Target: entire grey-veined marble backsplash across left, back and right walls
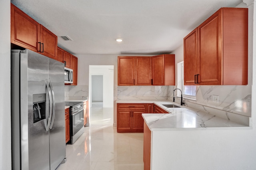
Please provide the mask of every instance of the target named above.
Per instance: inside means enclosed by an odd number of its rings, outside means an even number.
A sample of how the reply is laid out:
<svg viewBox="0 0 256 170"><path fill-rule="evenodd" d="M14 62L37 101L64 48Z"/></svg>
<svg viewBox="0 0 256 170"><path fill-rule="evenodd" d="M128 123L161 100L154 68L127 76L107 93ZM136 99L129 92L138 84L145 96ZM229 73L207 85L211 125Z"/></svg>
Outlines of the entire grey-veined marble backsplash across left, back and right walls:
<svg viewBox="0 0 256 170"><path fill-rule="evenodd" d="M72 97L87 97L88 85L65 86L65 99ZM176 86L114 86L114 100L170 100L172 101L173 89ZM216 85L197 86L196 100L184 99L188 107L204 110L212 115L225 119L244 116L251 117L252 86L250 85ZM218 97L218 102L213 101L213 96ZM179 98L176 100L180 104Z"/></svg>

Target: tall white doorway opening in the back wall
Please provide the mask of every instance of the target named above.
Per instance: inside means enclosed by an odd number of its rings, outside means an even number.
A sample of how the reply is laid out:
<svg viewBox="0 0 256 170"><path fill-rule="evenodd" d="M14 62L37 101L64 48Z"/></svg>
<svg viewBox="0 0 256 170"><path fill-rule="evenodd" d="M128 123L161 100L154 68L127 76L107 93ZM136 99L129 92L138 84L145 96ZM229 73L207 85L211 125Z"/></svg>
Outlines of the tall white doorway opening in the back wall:
<svg viewBox="0 0 256 170"><path fill-rule="evenodd" d="M114 65L89 65L89 122L113 125Z"/></svg>

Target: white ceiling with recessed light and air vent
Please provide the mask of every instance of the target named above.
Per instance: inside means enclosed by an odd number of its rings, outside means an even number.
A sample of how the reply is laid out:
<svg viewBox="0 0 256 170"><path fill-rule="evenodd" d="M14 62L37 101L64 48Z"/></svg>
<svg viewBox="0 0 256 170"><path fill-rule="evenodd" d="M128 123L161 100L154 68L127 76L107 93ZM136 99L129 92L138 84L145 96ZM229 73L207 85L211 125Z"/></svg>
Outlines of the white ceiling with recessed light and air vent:
<svg viewBox="0 0 256 170"><path fill-rule="evenodd" d="M221 7L242 0L11 0L72 54L171 53ZM64 41L69 36L74 41ZM116 42L122 38L123 42Z"/></svg>

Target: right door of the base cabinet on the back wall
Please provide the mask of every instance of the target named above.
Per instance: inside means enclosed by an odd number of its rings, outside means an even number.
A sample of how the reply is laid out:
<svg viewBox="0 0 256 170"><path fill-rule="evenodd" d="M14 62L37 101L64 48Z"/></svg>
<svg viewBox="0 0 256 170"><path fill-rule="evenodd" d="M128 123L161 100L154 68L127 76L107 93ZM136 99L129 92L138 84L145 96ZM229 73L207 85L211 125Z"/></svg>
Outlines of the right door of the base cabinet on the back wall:
<svg viewBox="0 0 256 170"><path fill-rule="evenodd" d="M146 113L146 110L134 110L132 111L132 130L135 132L143 132L144 119L142 113Z"/></svg>

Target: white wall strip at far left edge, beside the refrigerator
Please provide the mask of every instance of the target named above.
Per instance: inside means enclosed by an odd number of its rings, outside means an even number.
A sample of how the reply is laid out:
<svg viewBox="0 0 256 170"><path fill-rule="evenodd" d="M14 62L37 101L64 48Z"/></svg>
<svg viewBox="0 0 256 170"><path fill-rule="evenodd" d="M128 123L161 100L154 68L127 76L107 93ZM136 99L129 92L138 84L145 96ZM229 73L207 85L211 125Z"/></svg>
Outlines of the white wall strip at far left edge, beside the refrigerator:
<svg viewBox="0 0 256 170"><path fill-rule="evenodd" d="M10 0L0 2L0 170L11 169Z"/></svg>

